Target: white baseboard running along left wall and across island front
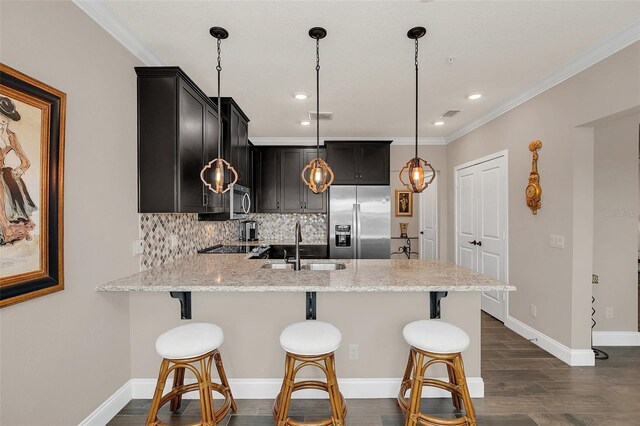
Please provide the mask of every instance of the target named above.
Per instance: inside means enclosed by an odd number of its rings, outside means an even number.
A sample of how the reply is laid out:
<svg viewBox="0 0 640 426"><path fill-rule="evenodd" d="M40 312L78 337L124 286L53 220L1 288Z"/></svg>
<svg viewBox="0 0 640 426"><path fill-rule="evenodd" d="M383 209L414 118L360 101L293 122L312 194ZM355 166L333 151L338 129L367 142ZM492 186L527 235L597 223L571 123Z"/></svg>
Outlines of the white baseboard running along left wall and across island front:
<svg viewBox="0 0 640 426"><path fill-rule="evenodd" d="M443 380L446 380L443 378ZM189 380L185 381L189 383ZM396 398L400 379L339 379L340 391L345 398ZM151 399L157 379L131 379L111 395L100 407L84 419L80 426L106 425L131 399ZM172 383L167 380L168 385ZM282 379L230 379L229 385L236 399L272 399L280 392ZM484 398L481 377L467 377L472 398ZM168 391L168 389L166 389ZM425 388L425 398L446 398L450 394L442 389ZM216 395L219 397L219 395ZM327 398L326 392L303 390L293 394L295 399ZM185 399L197 399L197 392L189 392Z"/></svg>

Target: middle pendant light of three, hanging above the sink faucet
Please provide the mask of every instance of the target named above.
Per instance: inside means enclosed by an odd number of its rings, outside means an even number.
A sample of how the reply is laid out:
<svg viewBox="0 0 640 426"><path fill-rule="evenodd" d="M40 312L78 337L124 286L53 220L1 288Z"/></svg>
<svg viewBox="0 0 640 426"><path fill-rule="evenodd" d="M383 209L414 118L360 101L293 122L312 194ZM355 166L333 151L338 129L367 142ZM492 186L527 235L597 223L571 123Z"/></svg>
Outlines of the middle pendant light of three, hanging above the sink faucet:
<svg viewBox="0 0 640 426"><path fill-rule="evenodd" d="M333 183L331 167L320 158L320 39L326 35L324 28L313 27L309 30L309 37L316 40L316 158L307 163L301 176L304 184L316 194L326 191Z"/></svg>

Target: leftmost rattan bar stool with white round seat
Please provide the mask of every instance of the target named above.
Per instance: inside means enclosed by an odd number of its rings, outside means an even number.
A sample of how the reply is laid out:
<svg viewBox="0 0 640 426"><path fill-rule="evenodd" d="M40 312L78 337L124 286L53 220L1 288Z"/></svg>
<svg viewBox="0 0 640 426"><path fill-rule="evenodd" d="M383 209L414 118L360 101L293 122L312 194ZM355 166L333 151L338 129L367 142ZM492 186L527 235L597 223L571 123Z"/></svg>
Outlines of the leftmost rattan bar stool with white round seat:
<svg viewBox="0 0 640 426"><path fill-rule="evenodd" d="M193 323L176 327L162 334L156 340L156 351L162 356L158 384L151 401L147 416L147 425L165 425L158 420L158 410L171 401L171 411L177 411L182 403L182 395L200 392L200 412L203 426L216 426L229 412L236 411L236 402L231 394L227 375L222 366L218 348L224 341L222 329L215 324ZM221 385L211 381L211 367L215 362ZM199 370L197 366L199 365ZM184 384L185 371L196 376L196 383ZM169 373L173 373L173 387L162 396ZM213 405L213 392L224 396L224 402L216 411Z"/></svg>

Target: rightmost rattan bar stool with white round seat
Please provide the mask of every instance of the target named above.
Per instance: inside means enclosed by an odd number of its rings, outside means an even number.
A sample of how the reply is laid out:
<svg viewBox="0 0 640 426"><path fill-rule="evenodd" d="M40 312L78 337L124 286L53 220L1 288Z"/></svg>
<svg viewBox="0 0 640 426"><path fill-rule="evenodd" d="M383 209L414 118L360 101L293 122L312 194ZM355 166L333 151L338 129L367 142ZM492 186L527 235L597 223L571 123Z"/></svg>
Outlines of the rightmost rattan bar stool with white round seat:
<svg viewBox="0 0 640 426"><path fill-rule="evenodd" d="M409 361L398 393L398 405L407 418L405 425L476 426L476 412L469 395L461 355L461 352L469 347L467 333L442 320L421 320L407 324L402 334L411 345ZM425 358L428 359L425 361ZM426 377L427 368L438 363L447 366L449 382ZM424 386L451 392L453 405L458 410L464 409L464 416L445 419L421 413L420 400ZM405 398L407 390L411 390L408 402Z"/></svg>

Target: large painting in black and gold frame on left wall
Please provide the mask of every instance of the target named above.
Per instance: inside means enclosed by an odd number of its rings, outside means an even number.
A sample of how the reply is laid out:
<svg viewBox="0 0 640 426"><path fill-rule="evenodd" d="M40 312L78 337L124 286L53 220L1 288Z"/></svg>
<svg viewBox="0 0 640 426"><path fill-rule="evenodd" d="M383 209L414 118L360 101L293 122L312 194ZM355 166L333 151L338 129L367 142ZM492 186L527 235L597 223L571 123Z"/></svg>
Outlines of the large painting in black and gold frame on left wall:
<svg viewBox="0 0 640 426"><path fill-rule="evenodd" d="M0 307L64 288L65 102L0 63Z"/></svg>

